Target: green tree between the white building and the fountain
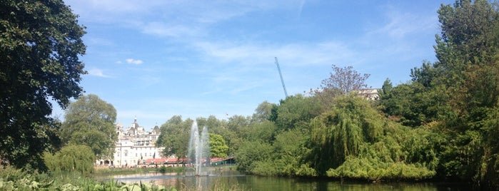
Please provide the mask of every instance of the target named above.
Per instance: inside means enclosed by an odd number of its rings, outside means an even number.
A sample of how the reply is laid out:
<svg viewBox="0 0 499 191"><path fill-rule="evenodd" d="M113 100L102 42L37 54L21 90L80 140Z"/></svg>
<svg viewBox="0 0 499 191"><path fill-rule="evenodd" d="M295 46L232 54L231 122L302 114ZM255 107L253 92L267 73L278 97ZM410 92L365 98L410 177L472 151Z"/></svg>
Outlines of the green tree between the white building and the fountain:
<svg viewBox="0 0 499 191"><path fill-rule="evenodd" d="M177 159L187 157L193 122L190 118L182 120L180 115L175 115L161 125L156 147L165 148L163 156L174 155Z"/></svg>

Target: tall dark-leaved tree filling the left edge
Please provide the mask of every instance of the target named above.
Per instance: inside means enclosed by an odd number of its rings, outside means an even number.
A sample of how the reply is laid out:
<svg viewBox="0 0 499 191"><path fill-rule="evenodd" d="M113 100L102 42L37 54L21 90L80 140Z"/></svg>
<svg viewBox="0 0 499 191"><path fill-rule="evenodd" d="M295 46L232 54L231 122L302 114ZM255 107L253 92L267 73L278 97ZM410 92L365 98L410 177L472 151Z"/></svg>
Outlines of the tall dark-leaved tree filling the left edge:
<svg viewBox="0 0 499 191"><path fill-rule="evenodd" d="M82 93L84 27L61 0L0 1L0 160L45 169L41 153L58 144L55 100Z"/></svg>

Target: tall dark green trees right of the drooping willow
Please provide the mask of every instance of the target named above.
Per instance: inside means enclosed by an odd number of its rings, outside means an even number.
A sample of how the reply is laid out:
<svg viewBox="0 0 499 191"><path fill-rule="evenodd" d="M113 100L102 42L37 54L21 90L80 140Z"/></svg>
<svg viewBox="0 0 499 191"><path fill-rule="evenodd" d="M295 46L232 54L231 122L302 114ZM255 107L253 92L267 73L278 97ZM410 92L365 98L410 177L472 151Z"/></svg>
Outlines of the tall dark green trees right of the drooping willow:
<svg viewBox="0 0 499 191"><path fill-rule="evenodd" d="M435 150L413 148L435 167L439 177L473 180L497 187L499 101L499 11L496 2L456 1L442 5L436 36L438 61L411 71L412 82L381 96L381 108L390 118L430 126ZM428 135L428 133L423 133Z"/></svg>

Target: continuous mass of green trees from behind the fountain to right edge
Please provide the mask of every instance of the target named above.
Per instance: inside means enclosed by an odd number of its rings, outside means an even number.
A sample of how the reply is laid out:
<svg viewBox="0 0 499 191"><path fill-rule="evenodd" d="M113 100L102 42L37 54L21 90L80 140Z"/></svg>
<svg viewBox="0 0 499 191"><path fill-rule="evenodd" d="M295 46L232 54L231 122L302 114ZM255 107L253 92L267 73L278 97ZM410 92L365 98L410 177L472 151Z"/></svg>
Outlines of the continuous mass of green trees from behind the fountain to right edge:
<svg viewBox="0 0 499 191"><path fill-rule="evenodd" d="M407 83L387 78L375 100L362 96L368 74L333 65L319 88L263 102L253 116L196 121L255 175L499 187L498 10L488 1L442 5L438 61L407 71ZM191 121L175 116L161 133Z"/></svg>

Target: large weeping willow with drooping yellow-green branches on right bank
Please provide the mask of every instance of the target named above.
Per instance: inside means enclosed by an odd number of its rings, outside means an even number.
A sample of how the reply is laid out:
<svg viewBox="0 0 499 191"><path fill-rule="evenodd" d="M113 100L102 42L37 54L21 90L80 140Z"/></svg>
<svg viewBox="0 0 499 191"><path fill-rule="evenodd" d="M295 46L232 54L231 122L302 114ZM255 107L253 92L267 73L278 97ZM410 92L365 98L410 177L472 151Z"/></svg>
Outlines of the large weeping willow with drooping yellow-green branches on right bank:
<svg viewBox="0 0 499 191"><path fill-rule="evenodd" d="M348 156L358 156L383 133L383 117L371 103L351 94L334 100L336 106L311 120L309 160L318 175L336 168Z"/></svg>

